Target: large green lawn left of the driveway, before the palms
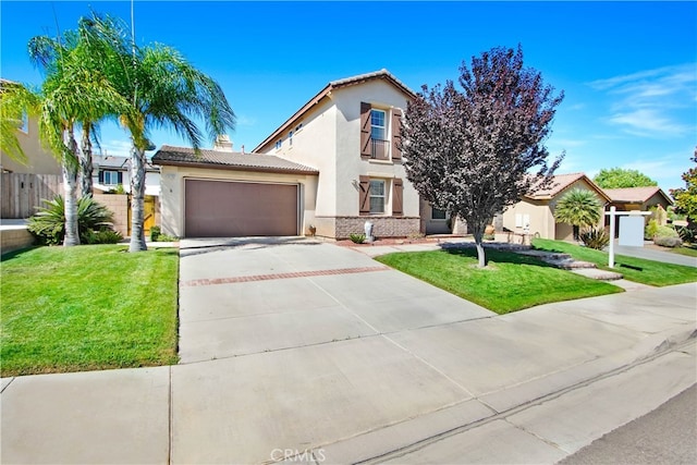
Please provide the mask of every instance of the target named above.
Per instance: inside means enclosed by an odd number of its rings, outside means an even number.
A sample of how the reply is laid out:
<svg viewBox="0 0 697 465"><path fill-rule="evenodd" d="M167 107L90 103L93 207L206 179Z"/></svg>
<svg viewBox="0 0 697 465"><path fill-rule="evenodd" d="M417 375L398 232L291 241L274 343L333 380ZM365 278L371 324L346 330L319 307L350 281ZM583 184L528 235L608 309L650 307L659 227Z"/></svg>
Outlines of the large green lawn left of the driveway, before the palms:
<svg viewBox="0 0 697 465"><path fill-rule="evenodd" d="M2 258L3 377L178 362L179 254L126 249L39 247Z"/></svg>

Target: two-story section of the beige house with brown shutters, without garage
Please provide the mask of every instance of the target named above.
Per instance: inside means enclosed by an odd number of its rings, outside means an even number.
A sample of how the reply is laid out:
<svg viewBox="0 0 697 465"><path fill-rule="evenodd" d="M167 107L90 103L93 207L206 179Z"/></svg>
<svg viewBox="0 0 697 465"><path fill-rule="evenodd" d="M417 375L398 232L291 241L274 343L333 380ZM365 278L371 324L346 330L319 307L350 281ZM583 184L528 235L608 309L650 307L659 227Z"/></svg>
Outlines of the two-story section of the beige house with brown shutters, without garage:
<svg viewBox="0 0 697 465"><path fill-rule="evenodd" d="M377 236L419 231L418 194L399 148L402 115L415 94L386 70L329 83L254 151L319 171L317 234L347 237L366 220Z"/></svg>

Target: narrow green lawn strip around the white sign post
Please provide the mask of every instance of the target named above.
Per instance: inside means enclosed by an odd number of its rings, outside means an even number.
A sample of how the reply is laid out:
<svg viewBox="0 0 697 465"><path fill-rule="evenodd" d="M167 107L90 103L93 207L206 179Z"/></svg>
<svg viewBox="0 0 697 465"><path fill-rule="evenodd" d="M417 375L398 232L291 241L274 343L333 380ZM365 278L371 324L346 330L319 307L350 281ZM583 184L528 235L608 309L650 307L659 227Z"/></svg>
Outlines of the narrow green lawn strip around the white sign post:
<svg viewBox="0 0 697 465"><path fill-rule="evenodd" d="M571 254L572 257L578 260L591 261L596 264L598 268L617 271L622 273L625 279L643 284L663 286L697 281L697 268L693 267L615 255L614 268L608 268L607 252L545 238L534 240L533 246L542 250Z"/></svg>

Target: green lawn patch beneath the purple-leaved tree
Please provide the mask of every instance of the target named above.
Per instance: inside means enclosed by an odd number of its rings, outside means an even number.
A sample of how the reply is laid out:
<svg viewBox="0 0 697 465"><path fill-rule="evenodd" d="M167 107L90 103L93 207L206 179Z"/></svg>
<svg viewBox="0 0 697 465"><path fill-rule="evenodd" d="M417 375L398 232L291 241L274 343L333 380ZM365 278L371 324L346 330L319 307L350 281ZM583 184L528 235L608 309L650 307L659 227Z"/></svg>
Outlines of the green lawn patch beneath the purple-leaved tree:
<svg viewBox="0 0 697 465"><path fill-rule="evenodd" d="M463 248L398 253L376 259L501 315L550 302L623 292L534 257L489 249L484 269L476 268L476 257L474 248Z"/></svg>

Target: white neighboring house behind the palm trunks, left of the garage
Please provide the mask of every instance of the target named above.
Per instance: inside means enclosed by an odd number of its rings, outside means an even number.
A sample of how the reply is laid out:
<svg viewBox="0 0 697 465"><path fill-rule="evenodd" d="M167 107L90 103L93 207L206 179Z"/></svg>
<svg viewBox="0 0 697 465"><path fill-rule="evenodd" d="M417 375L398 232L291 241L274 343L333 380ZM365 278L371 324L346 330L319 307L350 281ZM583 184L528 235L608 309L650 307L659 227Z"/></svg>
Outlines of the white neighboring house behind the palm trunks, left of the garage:
<svg viewBox="0 0 697 465"><path fill-rule="evenodd" d="M96 193L114 191L119 185L131 192L131 157L93 155L93 188ZM146 164L145 195L160 195L160 169Z"/></svg>

